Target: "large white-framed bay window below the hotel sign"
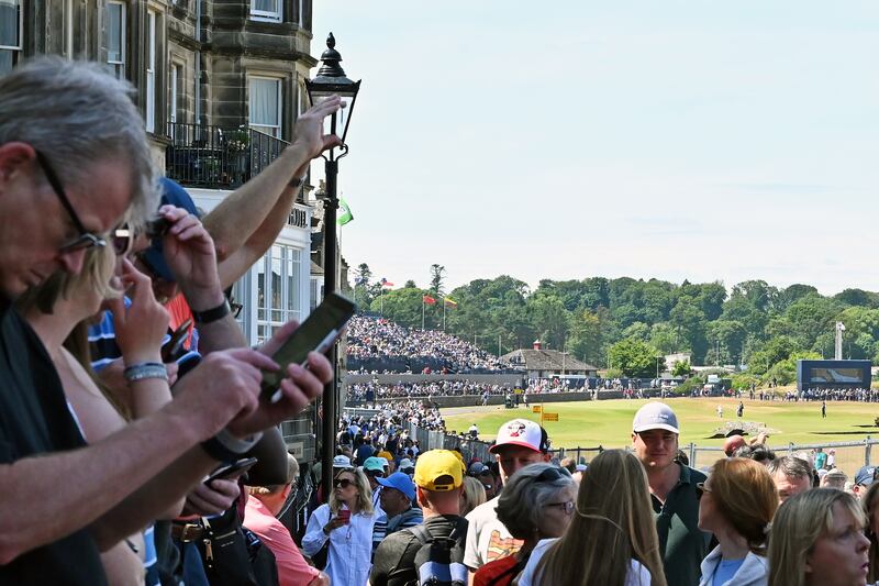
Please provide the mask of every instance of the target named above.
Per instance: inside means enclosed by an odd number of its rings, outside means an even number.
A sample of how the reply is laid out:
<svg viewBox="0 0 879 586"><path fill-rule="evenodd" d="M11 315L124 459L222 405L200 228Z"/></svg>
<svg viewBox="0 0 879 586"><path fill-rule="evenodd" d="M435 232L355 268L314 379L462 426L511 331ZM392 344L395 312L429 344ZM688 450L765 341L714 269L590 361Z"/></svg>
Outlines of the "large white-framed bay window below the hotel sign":
<svg viewBox="0 0 879 586"><path fill-rule="evenodd" d="M275 244L257 263L256 336L263 343L285 323L302 318L302 251Z"/></svg>

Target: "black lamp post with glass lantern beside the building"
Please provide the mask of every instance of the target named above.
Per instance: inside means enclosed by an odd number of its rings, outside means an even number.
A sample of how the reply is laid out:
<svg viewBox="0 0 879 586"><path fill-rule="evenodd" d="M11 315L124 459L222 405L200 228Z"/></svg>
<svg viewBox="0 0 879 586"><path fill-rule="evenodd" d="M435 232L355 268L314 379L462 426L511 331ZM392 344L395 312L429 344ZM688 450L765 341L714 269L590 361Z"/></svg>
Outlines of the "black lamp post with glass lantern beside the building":
<svg viewBox="0 0 879 586"><path fill-rule="evenodd" d="M333 33L326 37L326 51L321 55L323 65L318 70L318 77L305 80L309 101L313 104L330 96L340 96L343 101L342 109L330 119L330 132L338 135L337 129L342 126L342 146L336 154L331 148L323 156L326 176L326 199L323 201L323 292L335 292L336 284L336 210L338 210L338 159L348 154L345 136L348 134L348 123L354 112L354 102L360 81L352 81L345 77L345 71L338 65L342 55L335 49L336 40ZM323 484L324 499L330 499L333 490L333 456L335 455L336 422L338 421L338 345L334 344L330 351L330 363L333 365L333 380L323 389L323 422L321 427L321 483Z"/></svg>

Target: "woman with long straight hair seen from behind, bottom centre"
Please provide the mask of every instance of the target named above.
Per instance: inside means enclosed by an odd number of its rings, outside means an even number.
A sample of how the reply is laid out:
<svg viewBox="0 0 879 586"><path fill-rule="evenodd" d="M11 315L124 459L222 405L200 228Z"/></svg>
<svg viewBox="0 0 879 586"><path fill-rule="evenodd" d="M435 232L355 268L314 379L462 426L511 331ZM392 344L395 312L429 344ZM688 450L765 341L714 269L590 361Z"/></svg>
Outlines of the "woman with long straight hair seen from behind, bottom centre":
<svg viewBox="0 0 879 586"><path fill-rule="evenodd" d="M531 554L520 586L666 586L647 475L638 458L605 450L580 483L574 519Z"/></svg>

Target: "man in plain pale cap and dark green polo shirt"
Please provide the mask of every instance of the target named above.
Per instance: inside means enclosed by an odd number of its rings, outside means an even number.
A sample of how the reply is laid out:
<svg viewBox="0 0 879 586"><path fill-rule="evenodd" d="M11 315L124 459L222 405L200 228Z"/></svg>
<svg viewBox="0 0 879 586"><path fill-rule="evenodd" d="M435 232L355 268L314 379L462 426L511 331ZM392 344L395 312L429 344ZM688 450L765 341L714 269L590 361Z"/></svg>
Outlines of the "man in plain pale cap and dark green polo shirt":
<svg viewBox="0 0 879 586"><path fill-rule="evenodd" d="M678 418L663 402L648 402L632 422L632 447L647 473L659 550L669 586L699 584L711 533L700 531L696 485L705 475L675 461Z"/></svg>

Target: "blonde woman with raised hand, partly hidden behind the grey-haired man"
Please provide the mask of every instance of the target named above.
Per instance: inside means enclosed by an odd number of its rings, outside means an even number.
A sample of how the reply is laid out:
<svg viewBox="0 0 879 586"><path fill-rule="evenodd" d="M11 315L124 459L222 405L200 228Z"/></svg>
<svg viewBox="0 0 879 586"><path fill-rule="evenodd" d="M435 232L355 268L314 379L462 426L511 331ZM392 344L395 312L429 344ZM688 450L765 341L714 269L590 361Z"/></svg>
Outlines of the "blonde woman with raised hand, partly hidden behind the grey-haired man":
<svg viewBox="0 0 879 586"><path fill-rule="evenodd" d="M126 236L121 236L121 233ZM126 245L119 240L127 237ZM122 397L100 387L91 377L88 362L86 323L101 305L110 299L116 316L119 344L127 364L159 362L159 347L168 323L168 314L155 300L149 278L126 261L122 277L114 278L116 254L124 254L132 231L120 228L113 232L113 246L86 253L79 275L56 273L30 289L16 306L43 342L64 388L65 397L76 416L87 442L93 443L125 427L130 419L143 417L171 398L167 374L129 383L130 396ZM115 254L114 254L115 253ZM122 287L130 287L132 305L122 303ZM174 518L182 500L173 505L159 518ZM110 584L143 585L144 564L152 566L152 527L144 534L130 535L125 541L101 553L101 562Z"/></svg>

